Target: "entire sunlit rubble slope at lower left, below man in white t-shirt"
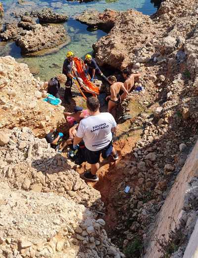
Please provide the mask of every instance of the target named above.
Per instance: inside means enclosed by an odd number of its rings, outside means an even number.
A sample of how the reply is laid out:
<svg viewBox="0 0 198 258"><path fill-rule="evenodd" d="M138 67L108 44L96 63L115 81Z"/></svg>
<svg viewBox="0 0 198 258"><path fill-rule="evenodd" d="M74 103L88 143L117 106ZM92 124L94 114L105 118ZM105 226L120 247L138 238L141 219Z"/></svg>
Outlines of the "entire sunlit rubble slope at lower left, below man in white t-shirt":
<svg viewBox="0 0 198 258"><path fill-rule="evenodd" d="M0 132L0 146L0 257L124 258L99 217L99 192L69 160L27 127Z"/></svg>

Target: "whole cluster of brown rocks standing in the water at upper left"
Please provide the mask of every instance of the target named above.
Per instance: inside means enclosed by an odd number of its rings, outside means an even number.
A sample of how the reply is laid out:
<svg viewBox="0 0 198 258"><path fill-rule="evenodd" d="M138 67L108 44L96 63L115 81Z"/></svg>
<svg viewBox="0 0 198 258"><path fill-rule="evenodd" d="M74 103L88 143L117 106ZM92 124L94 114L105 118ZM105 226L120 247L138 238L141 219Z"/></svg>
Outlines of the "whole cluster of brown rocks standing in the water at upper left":
<svg viewBox="0 0 198 258"><path fill-rule="evenodd" d="M55 15L55 14L54 14ZM53 19L57 17L54 16ZM58 16L61 18L62 16ZM55 52L58 46L62 47L69 43L70 37L66 34L63 25L36 24L30 16L21 15L21 21L6 23L4 31L0 33L3 41L14 40L21 48L22 54Z"/></svg>

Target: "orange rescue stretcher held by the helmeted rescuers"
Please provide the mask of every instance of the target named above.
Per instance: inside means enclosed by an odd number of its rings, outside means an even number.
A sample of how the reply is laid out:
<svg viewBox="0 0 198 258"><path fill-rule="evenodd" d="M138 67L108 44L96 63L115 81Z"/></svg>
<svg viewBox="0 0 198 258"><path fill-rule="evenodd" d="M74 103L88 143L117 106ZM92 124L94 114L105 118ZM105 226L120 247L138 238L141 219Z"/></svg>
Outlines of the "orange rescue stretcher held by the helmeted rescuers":
<svg viewBox="0 0 198 258"><path fill-rule="evenodd" d="M73 75L76 78L79 77L82 79L80 80L77 78L75 82L83 98L87 99L86 93L90 93L94 97L99 95L99 87L90 81L91 78L89 74L86 76L83 60L75 56L73 61L75 64L75 68L72 70Z"/></svg>

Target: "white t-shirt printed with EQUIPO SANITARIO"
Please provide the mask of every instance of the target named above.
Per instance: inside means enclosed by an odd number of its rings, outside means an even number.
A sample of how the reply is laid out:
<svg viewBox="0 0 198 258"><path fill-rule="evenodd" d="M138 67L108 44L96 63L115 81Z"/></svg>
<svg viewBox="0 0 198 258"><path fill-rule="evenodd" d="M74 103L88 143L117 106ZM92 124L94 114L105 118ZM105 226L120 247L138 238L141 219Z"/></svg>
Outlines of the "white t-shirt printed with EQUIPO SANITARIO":
<svg viewBox="0 0 198 258"><path fill-rule="evenodd" d="M110 113L99 113L82 119L76 136L83 138L88 150L99 151L111 142L111 128L116 126L116 121Z"/></svg>

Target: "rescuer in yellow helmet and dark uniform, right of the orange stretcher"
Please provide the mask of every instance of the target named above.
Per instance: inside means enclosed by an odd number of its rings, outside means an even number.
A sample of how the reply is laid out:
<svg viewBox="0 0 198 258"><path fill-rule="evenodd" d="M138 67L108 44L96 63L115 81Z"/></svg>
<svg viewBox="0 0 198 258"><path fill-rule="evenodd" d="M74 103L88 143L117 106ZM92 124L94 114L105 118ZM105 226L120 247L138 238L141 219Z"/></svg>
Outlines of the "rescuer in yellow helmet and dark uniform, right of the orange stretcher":
<svg viewBox="0 0 198 258"><path fill-rule="evenodd" d="M87 54L85 56L85 61L84 61L86 70L88 71L90 77L91 77L91 82L94 81L95 74L99 74L104 80L108 81L106 76L103 75L101 70L99 69L99 66L95 59L91 56L91 54Z"/></svg>

